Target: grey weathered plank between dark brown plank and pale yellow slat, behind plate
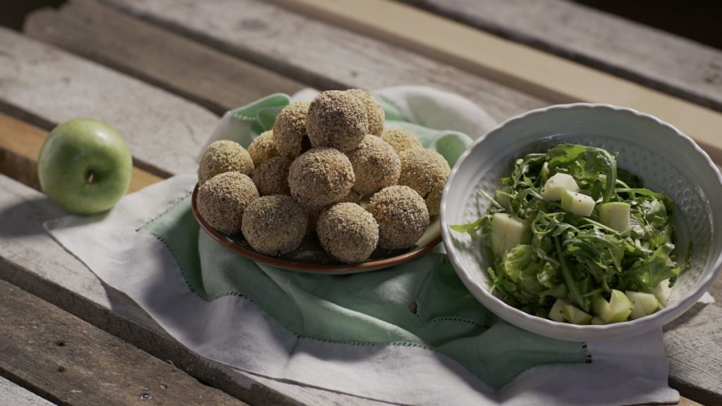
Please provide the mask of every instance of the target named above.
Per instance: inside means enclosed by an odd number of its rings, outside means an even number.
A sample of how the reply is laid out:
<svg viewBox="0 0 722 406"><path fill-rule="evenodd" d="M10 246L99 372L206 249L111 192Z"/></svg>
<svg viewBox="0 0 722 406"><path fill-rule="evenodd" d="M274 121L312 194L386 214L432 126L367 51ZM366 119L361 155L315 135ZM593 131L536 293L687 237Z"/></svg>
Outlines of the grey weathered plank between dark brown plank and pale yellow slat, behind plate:
<svg viewBox="0 0 722 406"><path fill-rule="evenodd" d="M104 0L321 90L429 85L503 120L545 100L282 7L253 0Z"/></svg>

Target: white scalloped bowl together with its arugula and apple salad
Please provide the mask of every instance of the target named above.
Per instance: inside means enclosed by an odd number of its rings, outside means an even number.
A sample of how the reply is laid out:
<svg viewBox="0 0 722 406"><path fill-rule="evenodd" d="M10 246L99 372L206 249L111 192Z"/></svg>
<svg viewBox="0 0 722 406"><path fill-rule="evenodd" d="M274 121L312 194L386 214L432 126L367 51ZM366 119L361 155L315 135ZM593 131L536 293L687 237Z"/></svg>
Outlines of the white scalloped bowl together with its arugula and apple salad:
<svg viewBox="0 0 722 406"><path fill-rule="evenodd" d="M690 308L722 263L722 180L684 134L611 105L511 118L457 161L445 248L506 321L562 340L622 337Z"/></svg>

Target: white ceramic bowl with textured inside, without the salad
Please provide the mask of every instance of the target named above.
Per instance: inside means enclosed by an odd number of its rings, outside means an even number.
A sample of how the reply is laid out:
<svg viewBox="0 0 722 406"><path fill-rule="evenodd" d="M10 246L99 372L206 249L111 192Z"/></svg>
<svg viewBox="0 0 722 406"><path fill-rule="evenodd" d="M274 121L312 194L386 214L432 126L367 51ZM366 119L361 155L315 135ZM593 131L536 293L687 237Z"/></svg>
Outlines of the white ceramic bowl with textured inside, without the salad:
<svg viewBox="0 0 722 406"><path fill-rule="evenodd" d="M448 228L477 220L488 210L490 202L477 191L484 189L493 195L514 160L560 143L619 152L619 168L640 176L645 187L664 191L674 200L677 247L682 249L692 242L692 267L679 275L664 310L603 326L558 323L526 314L489 293L486 269L492 262L482 249L484 242ZM502 319L561 340L630 336L661 327L687 311L716 276L722 264L722 178L690 137L653 116L612 105L553 105L510 118L477 139L459 157L441 200L441 230L446 251L466 288Z"/></svg>

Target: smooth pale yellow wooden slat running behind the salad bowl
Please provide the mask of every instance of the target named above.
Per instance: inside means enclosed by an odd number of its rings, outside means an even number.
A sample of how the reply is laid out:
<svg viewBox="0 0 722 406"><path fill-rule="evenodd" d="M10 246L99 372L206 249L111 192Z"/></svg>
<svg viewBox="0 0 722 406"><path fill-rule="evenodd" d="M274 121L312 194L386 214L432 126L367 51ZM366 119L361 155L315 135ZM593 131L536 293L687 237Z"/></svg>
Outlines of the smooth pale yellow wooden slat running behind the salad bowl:
<svg viewBox="0 0 722 406"><path fill-rule="evenodd" d="M554 103L611 103L651 113L722 160L722 114L687 100L390 0L274 2Z"/></svg>

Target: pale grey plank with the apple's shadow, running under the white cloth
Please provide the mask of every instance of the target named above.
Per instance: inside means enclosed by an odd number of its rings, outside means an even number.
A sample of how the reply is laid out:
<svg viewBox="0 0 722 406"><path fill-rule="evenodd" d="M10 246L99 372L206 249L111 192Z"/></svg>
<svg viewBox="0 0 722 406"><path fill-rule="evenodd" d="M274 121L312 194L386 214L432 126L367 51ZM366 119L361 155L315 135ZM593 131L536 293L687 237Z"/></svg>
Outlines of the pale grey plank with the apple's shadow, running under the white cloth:
<svg viewBox="0 0 722 406"><path fill-rule="evenodd" d="M386 405L253 376L192 353L128 296L103 285L45 232L45 220L64 214L38 191L0 175L0 280L252 405Z"/></svg>

